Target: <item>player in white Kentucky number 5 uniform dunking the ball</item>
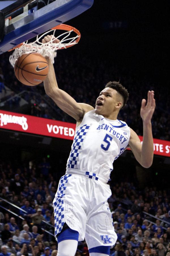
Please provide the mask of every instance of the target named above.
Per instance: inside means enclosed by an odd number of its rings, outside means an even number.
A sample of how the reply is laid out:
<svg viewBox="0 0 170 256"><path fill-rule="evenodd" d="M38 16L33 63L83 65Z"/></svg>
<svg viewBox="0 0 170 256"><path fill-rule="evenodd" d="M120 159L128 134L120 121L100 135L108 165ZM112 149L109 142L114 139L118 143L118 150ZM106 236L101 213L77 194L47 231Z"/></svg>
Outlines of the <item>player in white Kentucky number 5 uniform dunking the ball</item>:
<svg viewBox="0 0 170 256"><path fill-rule="evenodd" d="M49 42L46 36L42 43ZM56 40L56 42L58 42ZM109 255L116 243L112 215L107 199L107 184L113 161L127 148L145 168L152 165L153 138L151 118L155 110L154 91L142 100L143 144L124 121L117 119L126 105L128 91L119 82L109 82L101 90L95 109L77 103L58 88L54 67L48 60L49 73L44 80L46 94L61 110L76 119L76 132L66 174L61 177L55 195L55 236L58 256L74 256L78 241L86 239L90 256Z"/></svg>

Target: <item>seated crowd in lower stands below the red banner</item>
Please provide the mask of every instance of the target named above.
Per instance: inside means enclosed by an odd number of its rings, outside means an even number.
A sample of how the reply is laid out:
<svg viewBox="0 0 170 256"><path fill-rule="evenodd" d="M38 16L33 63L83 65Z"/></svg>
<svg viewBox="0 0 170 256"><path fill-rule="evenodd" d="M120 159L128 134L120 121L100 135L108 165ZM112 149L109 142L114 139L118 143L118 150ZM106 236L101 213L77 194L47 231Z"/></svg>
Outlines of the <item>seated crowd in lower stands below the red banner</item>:
<svg viewBox="0 0 170 256"><path fill-rule="evenodd" d="M64 170L57 173L46 158L18 168L0 160L0 256L57 255L52 201ZM169 256L170 189L139 189L114 180L110 185L108 202L118 236L110 255ZM85 241L78 243L76 255L89 255Z"/></svg>

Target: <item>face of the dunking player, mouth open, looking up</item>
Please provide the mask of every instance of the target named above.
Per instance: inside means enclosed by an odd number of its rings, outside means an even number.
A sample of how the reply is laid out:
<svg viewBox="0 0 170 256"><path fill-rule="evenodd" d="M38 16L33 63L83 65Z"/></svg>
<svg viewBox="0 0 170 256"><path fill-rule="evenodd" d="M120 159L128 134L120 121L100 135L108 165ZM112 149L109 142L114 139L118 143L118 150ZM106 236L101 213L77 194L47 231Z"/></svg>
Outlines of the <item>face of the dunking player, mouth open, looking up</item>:
<svg viewBox="0 0 170 256"><path fill-rule="evenodd" d="M113 112L119 110L121 105L122 102L118 101L116 90L107 87L100 92L100 95L96 100L95 113L107 118Z"/></svg>

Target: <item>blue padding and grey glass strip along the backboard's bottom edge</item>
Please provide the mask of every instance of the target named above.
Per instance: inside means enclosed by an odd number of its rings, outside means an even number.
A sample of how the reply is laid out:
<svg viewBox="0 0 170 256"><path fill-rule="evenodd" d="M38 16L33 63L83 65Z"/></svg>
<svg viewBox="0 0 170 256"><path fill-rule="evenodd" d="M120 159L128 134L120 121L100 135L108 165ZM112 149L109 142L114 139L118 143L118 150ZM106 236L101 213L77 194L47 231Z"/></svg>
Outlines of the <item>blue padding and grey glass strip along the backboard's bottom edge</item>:
<svg viewBox="0 0 170 256"><path fill-rule="evenodd" d="M5 35L0 42L0 54L13 47L64 23L87 9L94 0L56 0L5 27Z"/></svg>

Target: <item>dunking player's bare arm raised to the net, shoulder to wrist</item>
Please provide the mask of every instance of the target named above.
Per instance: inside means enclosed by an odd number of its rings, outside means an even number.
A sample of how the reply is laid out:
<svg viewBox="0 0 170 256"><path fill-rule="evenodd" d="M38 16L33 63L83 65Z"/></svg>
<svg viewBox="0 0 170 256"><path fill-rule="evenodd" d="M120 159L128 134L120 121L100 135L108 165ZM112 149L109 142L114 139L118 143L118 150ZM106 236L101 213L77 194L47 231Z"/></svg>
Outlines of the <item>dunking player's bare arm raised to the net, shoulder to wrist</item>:
<svg viewBox="0 0 170 256"><path fill-rule="evenodd" d="M58 88L54 67L51 61L48 61L48 76L44 80L45 92L57 106L76 121L80 121L84 114L93 109L92 106L83 103L77 103L67 92Z"/></svg>

